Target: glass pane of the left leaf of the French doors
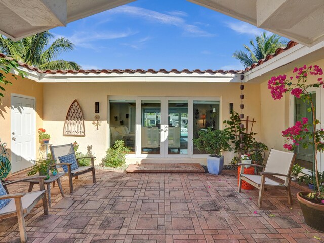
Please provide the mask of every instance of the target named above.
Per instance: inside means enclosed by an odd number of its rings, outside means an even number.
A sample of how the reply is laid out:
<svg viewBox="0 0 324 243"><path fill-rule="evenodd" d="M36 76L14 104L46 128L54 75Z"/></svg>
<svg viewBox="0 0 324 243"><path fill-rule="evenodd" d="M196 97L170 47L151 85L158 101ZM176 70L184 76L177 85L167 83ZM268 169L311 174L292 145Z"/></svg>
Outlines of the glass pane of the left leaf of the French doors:
<svg viewBox="0 0 324 243"><path fill-rule="evenodd" d="M161 153L161 101L141 101L141 154Z"/></svg>

